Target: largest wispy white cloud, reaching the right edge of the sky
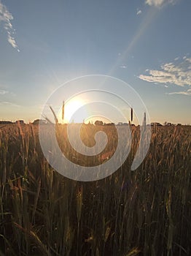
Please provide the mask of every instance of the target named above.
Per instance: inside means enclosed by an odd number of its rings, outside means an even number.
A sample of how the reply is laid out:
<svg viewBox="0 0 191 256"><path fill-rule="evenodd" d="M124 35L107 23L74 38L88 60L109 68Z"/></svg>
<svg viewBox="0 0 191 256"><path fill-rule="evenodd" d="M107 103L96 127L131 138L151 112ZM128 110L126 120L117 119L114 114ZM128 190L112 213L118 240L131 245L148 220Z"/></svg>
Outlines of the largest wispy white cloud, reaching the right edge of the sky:
<svg viewBox="0 0 191 256"><path fill-rule="evenodd" d="M191 58L183 58L182 62L166 63L160 70L148 70L149 75L139 75L141 80L151 83L174 84L176 86L191 86Z"/></svg>

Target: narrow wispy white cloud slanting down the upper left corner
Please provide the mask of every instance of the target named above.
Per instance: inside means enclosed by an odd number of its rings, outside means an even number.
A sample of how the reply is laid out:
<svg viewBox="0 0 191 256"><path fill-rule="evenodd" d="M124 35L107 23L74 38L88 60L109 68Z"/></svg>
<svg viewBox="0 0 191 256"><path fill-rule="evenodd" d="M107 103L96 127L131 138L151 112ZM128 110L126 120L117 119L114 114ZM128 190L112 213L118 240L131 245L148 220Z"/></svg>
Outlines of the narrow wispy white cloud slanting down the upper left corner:
<svg viewBox="0 0 191 256"><path fill-rule="evenodd" d="M12 14L7 10L7 7L1 3L0 0L0 25L3 23L4 29L7 31L7 41L13 48L20 50L17 47L17 43L14 37L15 29L12 28Z"/></svg>

